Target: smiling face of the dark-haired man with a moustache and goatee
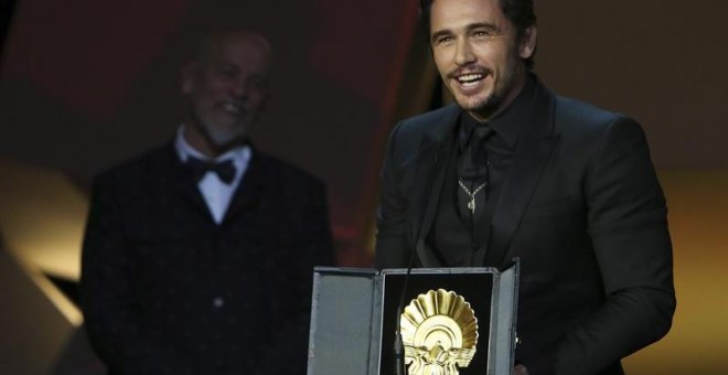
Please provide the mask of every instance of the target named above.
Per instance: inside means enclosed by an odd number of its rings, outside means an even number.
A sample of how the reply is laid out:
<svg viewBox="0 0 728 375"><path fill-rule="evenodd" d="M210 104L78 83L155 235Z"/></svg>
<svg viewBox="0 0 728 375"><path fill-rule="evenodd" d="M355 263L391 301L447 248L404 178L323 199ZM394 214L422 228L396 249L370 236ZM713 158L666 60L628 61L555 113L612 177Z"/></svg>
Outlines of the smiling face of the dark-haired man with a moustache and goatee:
<svg viewBox="0 0 728 375"><path fill-rule="evenodd" d="M430 30L435 64L460 107L485 120L515 98L535 28L518 41L499 0L436 0Z"/></svg>

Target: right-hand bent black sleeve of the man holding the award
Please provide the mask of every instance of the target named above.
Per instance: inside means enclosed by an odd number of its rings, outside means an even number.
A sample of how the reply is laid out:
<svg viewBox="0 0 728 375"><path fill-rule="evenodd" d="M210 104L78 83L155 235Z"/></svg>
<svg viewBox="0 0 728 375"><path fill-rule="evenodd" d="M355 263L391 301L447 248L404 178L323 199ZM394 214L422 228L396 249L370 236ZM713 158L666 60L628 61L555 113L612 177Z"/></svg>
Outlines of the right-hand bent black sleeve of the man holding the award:
<svg viewBox="0 0 728 375"><path fill-rule="evenodd" d="M557 349L557 374L592 374L667 333L675 310L667 208L640 125L606 130L585 185L606 302Z"/></svg>

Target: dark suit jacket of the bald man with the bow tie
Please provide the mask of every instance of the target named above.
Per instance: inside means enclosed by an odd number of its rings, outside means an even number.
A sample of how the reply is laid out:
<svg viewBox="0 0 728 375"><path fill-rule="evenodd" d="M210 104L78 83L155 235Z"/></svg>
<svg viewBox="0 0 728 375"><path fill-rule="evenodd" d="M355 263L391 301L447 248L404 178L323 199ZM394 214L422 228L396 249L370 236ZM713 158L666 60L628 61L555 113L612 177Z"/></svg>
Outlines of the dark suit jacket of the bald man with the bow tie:
<svg viewBox="0 0 728 375"><path fill-rule="evenodd" d="M113 373L304 374L324 188L258 151L216 225L174 148L95 180L81 297Z"/></svg>

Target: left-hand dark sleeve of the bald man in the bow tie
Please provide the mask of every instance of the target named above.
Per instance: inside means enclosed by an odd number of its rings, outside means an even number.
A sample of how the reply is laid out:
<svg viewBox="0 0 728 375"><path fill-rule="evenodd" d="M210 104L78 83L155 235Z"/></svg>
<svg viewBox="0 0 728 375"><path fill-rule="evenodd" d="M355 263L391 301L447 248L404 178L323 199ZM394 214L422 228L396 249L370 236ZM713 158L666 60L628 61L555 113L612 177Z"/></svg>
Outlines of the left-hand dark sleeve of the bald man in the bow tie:
<svg viewBox="0 0 728 375"><path fill-rule="evenodd" d="M124 204L114 183L99 181L92 195L79 289L89 341L111 373L191 374L184 356L139 314Z"/></svg>

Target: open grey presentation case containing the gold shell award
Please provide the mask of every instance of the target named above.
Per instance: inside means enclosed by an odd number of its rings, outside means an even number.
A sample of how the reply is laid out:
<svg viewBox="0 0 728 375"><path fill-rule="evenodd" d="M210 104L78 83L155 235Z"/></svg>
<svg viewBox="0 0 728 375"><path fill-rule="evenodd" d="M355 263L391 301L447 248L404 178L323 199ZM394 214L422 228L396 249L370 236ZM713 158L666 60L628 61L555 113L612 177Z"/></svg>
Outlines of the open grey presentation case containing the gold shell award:
<svg viewBox="0 0 728 375"><path fill-rule="evenodd" d="M308 374L394 374L398 329L406 374L511 374L517 286L517 260L502 270L317 267Z"/></svg>

